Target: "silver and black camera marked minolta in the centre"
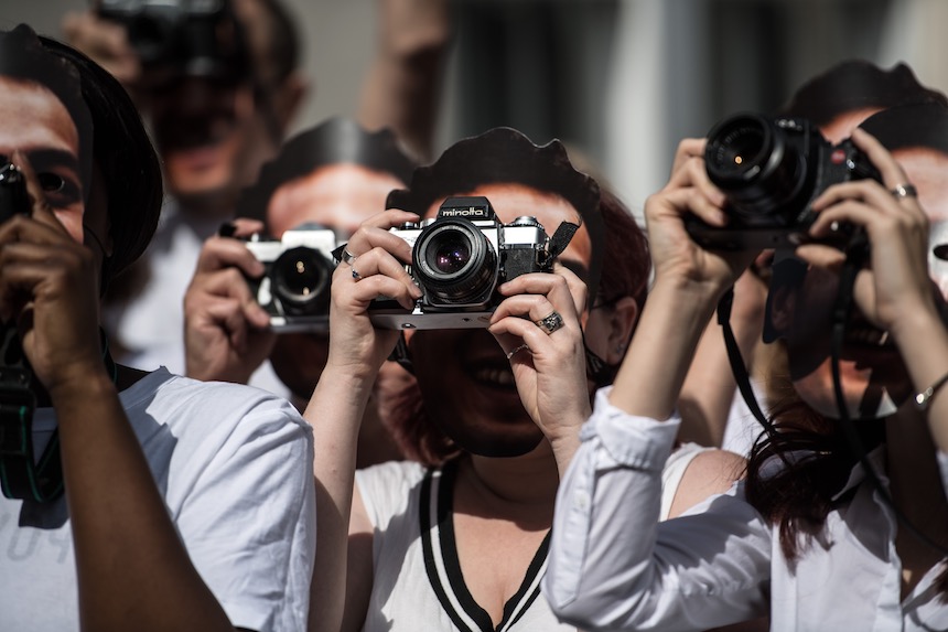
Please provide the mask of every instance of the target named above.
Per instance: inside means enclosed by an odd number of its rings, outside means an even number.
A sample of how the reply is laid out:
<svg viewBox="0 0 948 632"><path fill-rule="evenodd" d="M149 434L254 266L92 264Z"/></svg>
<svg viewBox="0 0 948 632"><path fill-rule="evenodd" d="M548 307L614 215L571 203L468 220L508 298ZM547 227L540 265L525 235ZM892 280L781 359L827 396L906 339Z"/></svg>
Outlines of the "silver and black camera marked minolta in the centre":
<svg viewBox="0 0 948 632"><path fill-rule="evenodd" d="M536 217L500 223L486 197L449 197L433 219L391 229L412 246L408 271L423 296L410 312L379 298L369 317L387 329L487 326L503 300L497 286L551 271L578 227L563 222L551 238Z"/></svg>

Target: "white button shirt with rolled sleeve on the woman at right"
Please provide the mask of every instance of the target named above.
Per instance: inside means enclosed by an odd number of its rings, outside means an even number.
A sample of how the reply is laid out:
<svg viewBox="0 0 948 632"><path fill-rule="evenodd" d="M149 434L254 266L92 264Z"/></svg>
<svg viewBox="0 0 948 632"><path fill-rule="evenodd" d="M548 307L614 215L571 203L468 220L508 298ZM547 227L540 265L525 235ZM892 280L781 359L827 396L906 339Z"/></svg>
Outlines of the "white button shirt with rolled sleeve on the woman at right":
<svg viewBox="0 0 948 632"><path fill-rule="evenodd" d="M766 614L774 631L948 629L934 586L944 565L899 600L896 522L861 468L852 500L791 569L741 483L659 524L661 465L680 420L633 417L607 394L596 394L559 489L542 588L561 618L610 630L704 630ZM948 489L948 456L938 459Z"/></svg>

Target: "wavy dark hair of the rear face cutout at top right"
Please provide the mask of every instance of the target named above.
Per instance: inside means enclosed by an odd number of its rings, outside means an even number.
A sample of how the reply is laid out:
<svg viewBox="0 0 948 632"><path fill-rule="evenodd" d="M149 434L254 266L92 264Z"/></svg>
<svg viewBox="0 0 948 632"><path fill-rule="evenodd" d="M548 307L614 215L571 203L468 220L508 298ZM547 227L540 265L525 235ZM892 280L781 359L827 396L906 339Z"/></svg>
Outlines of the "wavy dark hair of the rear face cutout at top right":
<svg viewBox="0 0 948 632"><path fill-rule="evenodd" d="M848 60L800 86L779 114L823 126L849 111L908 104L948 107L948 97L923 86L905 64L883 69L864 60Z"/></svg>

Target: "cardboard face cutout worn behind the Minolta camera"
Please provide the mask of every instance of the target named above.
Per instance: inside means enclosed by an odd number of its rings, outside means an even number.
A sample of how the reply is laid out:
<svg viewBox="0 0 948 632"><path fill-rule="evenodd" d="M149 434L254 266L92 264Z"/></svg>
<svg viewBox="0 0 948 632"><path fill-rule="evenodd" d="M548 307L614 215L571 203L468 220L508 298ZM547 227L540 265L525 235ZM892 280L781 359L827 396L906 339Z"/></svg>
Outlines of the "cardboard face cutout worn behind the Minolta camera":
<svg viewBox="0 0 948 632"><path fill-rule="evenodd" d="M597 286L604 233L599 186L573 168L559 141L540 147L508 128L464 139L416 170L409 188L394 191L387 205L433 218L445 200L456 197L485 197L504 225L535 217L546 235L531 238L549 237L564 222L581 223L559 260ZM442 217L450 222L454 215ZM543 435L524 409L510 362L486 330L417 331L408 346L423 424L486 457L516 457L540 444ZM394 417L395 426L419 422Z"/></svg>

